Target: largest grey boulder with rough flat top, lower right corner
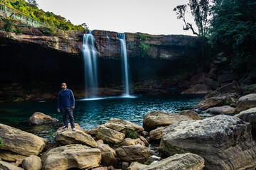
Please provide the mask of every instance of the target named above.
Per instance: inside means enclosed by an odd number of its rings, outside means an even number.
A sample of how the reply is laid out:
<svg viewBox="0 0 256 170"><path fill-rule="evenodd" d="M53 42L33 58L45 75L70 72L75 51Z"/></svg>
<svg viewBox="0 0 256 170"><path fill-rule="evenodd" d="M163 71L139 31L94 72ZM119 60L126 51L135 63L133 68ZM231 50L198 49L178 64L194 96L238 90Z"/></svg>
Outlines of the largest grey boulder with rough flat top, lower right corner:
<svg viewBox="0 0 256 170"><path fill-rule="evenodd" d="M229 115L179 122L163 130L159 149L166 155L191 152L206 169L255 169L256 143L250 123Z"/></svg>

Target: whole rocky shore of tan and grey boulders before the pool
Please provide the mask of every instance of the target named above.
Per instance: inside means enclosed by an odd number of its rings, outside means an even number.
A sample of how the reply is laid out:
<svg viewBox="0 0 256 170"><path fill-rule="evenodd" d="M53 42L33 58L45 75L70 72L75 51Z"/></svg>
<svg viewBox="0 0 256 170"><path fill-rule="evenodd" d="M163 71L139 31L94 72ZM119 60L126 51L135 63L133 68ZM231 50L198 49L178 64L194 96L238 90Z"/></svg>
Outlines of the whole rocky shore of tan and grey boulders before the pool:
<svg viewBox="0 0 256 170"><path fill-rule="evenodd" d="M52 143L0 124L0 169L255 169L253 87L233 81L206 95L194 111L147 113L143 127L111 118L90 131L78 124L75 132L59 128ZM216 116L202 120L202 112ZM34 113L27 123L55 121Z"/></svg>

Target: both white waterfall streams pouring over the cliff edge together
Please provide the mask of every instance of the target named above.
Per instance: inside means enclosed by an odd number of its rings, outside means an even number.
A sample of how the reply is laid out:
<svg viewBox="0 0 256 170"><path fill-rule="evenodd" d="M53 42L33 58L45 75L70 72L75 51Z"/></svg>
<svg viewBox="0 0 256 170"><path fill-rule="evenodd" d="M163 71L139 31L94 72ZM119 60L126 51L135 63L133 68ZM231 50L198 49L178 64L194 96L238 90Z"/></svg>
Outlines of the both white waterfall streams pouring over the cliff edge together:
<svg viewBox="0 0 256 170"><path fill-rule="evenodd" d="M83 35L82 55L85 67L85 100L99 99L97 97L98 74L97 74L97 50L95 48L95 38L92 35L93 31ZM107 35L107 34L106 34ZM127 60L127 47L125 42L125 34L118 33L118 38L121 45L122 57L122 77L125 83L125 91L122 97L132 97L129 95L129 66ZM107 40L110 38L107 36Z"/></svg>

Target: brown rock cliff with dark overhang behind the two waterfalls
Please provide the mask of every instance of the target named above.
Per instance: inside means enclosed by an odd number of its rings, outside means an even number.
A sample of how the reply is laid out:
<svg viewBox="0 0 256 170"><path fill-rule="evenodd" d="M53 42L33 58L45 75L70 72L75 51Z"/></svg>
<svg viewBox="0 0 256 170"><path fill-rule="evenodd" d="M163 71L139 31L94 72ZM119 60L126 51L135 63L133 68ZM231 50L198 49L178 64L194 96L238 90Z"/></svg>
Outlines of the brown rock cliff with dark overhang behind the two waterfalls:
<svg viewBox="0 0 256 170"><path fill-rule="evenodd" d="M23 34L0 30L0 101L10 97L28 98L31 94L55 98L55 92L63 81L83 96L81 48L85 31L54 30L49 33L43 28L27 27L21 30ZM94 30L93 35L98 52L99 85L121 85L122 59L118 33ZM142 33L125 35L131 82L171 77L194 67L201 57L201 45L196 37ZM55 94L47 97L46 93Z"/></svg>

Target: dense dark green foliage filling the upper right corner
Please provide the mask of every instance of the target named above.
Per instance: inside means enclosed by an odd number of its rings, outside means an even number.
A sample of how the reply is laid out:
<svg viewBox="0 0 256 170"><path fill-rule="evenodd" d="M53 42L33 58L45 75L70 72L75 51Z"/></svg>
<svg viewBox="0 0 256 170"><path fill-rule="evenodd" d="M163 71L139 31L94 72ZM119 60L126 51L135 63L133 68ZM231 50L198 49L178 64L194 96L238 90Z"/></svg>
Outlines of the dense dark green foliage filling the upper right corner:
<svg viewBox="0 0 256 170"><path fill-rule="evenodd" d="M210 44L231 56L233 67L253 69L256 55L256 1L215 0Z"/></svg>

